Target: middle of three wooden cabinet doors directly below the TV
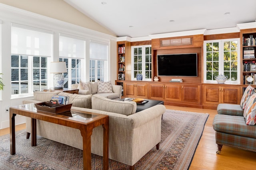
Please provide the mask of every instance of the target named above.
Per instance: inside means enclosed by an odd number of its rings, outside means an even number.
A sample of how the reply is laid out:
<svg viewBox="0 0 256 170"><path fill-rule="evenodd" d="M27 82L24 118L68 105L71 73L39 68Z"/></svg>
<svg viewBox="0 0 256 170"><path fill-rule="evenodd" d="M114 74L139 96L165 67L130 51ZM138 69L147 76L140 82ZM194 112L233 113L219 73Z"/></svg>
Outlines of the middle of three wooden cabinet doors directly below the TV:
<svg viewBox="0 0 256 170"><path fill-rule="evenodd" d="M181 86L179 84L166 84L164 87L166 100L181 101Z"/></svg>

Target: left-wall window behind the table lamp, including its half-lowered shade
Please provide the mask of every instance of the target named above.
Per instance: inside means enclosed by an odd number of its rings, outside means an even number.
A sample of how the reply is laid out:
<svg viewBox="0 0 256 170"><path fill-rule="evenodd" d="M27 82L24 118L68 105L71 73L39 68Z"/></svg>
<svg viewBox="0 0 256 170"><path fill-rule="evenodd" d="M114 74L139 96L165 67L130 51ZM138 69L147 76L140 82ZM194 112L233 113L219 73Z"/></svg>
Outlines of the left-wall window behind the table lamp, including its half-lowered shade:
<svg viewBox="0 0 256 170"><path fill-rule="evenodd" d="M59 61L66 62L67 71L64 75L64 88L79 83L82 73L82 61L85 58L86 41L80 37L60 35Z"/></svg>

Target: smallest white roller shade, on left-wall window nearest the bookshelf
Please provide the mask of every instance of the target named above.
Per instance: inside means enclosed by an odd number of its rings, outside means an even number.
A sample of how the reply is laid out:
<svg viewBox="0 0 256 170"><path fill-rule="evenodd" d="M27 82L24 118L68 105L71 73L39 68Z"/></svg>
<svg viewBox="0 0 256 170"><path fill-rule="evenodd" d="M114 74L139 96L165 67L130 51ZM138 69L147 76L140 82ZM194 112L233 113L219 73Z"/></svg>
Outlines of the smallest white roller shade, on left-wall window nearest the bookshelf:
<svg viewBox="0 0 256 170"><path fill-rule="evenodd" d="M90 59L108 60L108 45L90 42Z"/></svg>

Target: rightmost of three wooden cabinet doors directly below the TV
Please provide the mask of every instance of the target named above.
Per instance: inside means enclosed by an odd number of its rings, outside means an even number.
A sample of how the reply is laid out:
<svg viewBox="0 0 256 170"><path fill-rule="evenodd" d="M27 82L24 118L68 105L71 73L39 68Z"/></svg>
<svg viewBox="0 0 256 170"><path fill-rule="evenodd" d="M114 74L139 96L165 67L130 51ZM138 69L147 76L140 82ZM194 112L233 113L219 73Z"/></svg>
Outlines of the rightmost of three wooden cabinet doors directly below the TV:
<svg viewBox="0 0 256 170"><path fill-rule="evenodd" d="M182 85L182 101L200 104L201 86L199 85Z"/></svg>

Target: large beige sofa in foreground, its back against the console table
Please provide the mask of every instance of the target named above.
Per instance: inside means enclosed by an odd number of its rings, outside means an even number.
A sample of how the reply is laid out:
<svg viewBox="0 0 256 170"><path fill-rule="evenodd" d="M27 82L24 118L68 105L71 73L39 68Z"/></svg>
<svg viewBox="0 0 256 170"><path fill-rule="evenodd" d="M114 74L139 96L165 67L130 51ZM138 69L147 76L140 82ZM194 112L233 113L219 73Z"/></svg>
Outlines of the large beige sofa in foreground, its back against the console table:
<svg viewBox="0 0 256 170"><path fill-rule="evenodd" d="M35 92L34 100L24 100L23 104L49 101L54 92ZM161 141L161 117L166 108L157 105L136 111L136 103L110 100L99 95L79 95L61 92L70 96L72 109L100 113L109 116L109 158L130 165L142 158L149 150L159 148ZM31 132L31 120L27 117L27 132ZM78 129L37 120L37 135L82 149L82 136ZM92 133L91 151L103 155L103 128L96 127Z"/></svg>

